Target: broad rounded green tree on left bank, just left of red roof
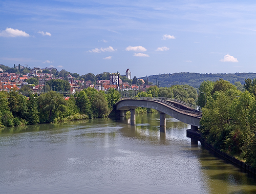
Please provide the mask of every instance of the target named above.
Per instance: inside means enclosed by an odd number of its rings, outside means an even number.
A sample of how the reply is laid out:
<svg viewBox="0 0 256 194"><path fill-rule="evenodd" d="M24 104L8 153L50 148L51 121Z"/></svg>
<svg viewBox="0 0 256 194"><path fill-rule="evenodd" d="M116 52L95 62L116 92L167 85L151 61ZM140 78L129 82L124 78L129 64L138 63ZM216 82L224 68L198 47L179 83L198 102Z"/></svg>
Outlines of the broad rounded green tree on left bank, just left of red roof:
<svg viewBox="0 0 256 194"><path fill-rule="evenodd" d="M62 95L54 91L41 94L37 100L40 123L53 122L67 110L67 102Z"/></svg>

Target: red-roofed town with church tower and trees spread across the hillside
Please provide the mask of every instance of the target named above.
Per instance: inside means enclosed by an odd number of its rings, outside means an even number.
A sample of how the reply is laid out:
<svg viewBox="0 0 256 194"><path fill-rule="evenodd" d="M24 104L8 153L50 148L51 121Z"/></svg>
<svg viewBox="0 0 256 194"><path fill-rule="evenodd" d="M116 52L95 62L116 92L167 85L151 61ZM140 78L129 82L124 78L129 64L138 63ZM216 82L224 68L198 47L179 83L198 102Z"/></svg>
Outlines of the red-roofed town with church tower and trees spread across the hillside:
<svg viewBox="0 0 256 194"><path fill-rule="evenodd" d="M3 65L2 65L3 67ZM27 68L24 66L15 66L10 69L16 69L15 73L5 72L0 66L0 91L4 90L10 92L13 89L16 90L29 90L32 93L40 94L48 91L56 91L63 95L74 94L86 88L95 88L97 91L108 91L109 89L115 89L118 91L141 91L145 92L147 88L150 88L152 83L148 83L148 80L131 78L131 70L127 69L125 75L120 73L108 73L104 72L103 76L94 76L89 73L89 76L79 76L77 73L70 73L65 70L60 72L53 67L40 68ZM26 71L24 71L26 70ZM29 71L29 72L28 72ZM23 72L23 73L20 73ZM54 80L66 80L69 82L69 86L63 88L55 87ZM45 87L49 84L49 87Z"/></svg>

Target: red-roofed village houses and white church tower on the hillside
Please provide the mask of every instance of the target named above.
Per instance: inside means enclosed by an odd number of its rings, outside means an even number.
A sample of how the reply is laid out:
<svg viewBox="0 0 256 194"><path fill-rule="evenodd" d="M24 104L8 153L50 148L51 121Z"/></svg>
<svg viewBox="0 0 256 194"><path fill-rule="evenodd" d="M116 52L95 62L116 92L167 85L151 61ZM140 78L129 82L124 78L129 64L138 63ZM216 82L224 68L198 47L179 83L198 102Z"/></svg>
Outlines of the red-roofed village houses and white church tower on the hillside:
<svg viewBox="0 0 256 194"><path fill-rule="evenodd" d="M16 69L24 69L24 66L17 66ZM116 89L118 91L146 91L151 85L146 84L148 82L143 79L138 79L137 81L140 84L131 84L129 82L123 82L121 80L121 76L125 76L127 79L131 80L131 71L127 69L125 71L125 75L120 75L120 73L110 73L109 79L104 80L96 80L96 82L92 82L91 80L77 80L75 77L72 77L70 74L64 77L56 77L52 72L56 72L56 68L33 68L30 69L30 72L27 74L18 74L18 73L7 73L3 72L3 69L0 68L0 91L11 91L13 89L20 90L25 85L33 91L33 93L40 94L42 92L46 92L45 85L47 81L51 81L53 79L61 79L68 80L70 84L70 91L57 91L55 87L50 87L50 90L56 92L65 92L66 94L74 94L76 91L79 92L86 88L95 88L97 91L108 91L109 89ZM42 73L47 72L47 73ZM27 80L30 78L37 78L38 84L28 83ZM49 89L48 89L49 90Z"/></svg>

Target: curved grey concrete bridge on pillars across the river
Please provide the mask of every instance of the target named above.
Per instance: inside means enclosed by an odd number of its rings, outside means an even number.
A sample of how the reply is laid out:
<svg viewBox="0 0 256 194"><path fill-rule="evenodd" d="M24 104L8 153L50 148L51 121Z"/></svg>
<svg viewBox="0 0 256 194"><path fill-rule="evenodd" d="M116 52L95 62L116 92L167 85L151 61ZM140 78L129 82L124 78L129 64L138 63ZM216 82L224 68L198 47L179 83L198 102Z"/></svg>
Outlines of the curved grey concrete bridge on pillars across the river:
<svg viewBox="0 0 256 194"><path fill-rule="evenodd" d="M202 118L202 112L196 110L194 105L172 98L135 97L116 102L116 111L119 112L121 120L124 119L125 111L130 111L131 122L135 122L135 109L137 107L157 110L160 113L160 131L161 127L164 129L162 132L165 132L166 114L191 125L192 131L197 131Z"/></svg>

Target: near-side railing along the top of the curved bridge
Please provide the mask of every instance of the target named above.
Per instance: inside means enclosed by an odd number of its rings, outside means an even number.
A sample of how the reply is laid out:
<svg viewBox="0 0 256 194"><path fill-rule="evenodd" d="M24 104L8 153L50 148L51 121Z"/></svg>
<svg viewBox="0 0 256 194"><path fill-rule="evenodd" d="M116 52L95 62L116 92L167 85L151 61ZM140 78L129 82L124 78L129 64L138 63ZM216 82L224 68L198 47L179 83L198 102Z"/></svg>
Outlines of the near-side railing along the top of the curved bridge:
<svg viewBox="0 0 256 194"><path fill-rule="evenodd" d="M163 100L161 98L154 98L154 97L131 97L131 98L122 98L119 101L124 100L124 99L157 101L157 102L160 102L162 104L165 104L166 106L169 106L171 109L173 109L173 110L175 110L177 112L180 112L180 113L183 113L183 114L186 114L186 115L190 115L190 116L194 116L194 117L198 117L198 118L202 117L202 113L195 113L193 111L179 109L178 107L174 106L172 103L168 102L168 100Z"/></svg>

